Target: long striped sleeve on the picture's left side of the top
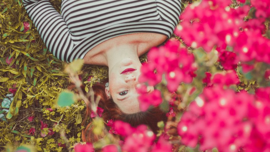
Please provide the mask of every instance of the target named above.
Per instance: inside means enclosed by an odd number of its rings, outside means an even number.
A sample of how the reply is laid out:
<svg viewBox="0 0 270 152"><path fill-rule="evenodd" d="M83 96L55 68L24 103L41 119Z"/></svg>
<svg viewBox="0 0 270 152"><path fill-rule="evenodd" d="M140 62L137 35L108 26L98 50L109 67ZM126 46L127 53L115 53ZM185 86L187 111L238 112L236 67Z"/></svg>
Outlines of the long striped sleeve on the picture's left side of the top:
<svg viewBox="0 0 270 152"><path fill-rule="evenodd" d="M49 0L23 0L23 3L47 48L55 57L67 61L74 43L62 15Z"/></svg>

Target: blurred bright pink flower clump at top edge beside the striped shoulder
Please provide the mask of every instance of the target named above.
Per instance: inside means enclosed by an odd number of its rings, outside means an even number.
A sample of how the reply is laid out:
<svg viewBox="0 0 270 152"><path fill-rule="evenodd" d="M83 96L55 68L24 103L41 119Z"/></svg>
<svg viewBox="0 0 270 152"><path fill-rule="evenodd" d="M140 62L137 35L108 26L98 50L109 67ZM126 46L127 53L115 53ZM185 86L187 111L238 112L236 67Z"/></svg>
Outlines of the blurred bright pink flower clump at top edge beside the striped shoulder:
<svg viewBox="0 0 270 152"><path fill-rule="evenodd" d="M229 4L230 1L206 0L198 6L188 6L181 14L182 22L175 33L187 45L193 48L203 47L207 52L214 46L231 45L249 8L240 7L236 10L229 8Z"/></svg>

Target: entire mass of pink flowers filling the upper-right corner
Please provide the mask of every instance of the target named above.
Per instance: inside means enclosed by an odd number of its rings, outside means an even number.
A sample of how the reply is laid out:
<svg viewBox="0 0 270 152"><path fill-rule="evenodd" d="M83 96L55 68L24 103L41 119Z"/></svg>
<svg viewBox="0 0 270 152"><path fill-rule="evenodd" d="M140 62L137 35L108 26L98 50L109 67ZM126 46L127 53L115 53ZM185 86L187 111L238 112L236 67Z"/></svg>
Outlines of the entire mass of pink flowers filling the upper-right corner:
<svg viewBox="0 0 270 152"><path fill-rule="evenodd" d="M206 0L197 6L188 6L175 33L193 48L203 47L210 52L216 47L225 70L235 69L239 61L270 63L270 41L262 36L265 18L269 17L269 2L251 1L256 18L245 22L250 6L230 8L229 4L230 1ZM227 46L233 51L226 51Z"/></svg>

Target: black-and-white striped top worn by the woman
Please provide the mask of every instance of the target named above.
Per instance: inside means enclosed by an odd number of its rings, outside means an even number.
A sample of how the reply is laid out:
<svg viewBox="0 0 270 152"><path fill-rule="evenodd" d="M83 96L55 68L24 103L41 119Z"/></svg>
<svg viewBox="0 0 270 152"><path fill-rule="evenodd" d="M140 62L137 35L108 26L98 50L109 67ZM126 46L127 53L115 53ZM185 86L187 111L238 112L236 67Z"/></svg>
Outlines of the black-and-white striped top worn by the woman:
<svg viewBox="0 0 270 152"><path fill-rule="evenodd" d="M83 59L103 41L132 33L172 35L181 0L62 0L61 14L49 0L23 0L51 53L62 61Z"/></svg>

